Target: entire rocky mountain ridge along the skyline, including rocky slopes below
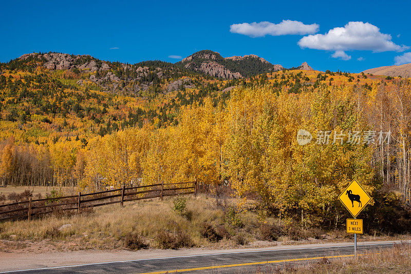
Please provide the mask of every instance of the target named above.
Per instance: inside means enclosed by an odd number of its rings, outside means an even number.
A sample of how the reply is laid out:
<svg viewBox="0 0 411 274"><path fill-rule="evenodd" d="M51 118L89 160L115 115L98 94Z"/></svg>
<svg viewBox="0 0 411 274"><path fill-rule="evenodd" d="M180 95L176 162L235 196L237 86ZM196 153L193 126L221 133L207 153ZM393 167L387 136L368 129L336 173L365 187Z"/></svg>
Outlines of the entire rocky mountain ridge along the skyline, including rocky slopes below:
<svg viewBox="0 0 411 274"><path fill-rule="evenodd" d="M98 86L107 92L121 94L145 94L183 90L201 85L202 77L218 77L235 80L284 70L282 65L273 65L257 55L222 57L218 52L201 50L175 64L163 61L143 61L136 64L102 61L90 55L67 53L29 53L9 63L0 63L3 68L33 72L39 66L50 71L65 70L81 86ZM291 69L312 70L303 63ZM195 84L196 83L196 84Z"/></svg>

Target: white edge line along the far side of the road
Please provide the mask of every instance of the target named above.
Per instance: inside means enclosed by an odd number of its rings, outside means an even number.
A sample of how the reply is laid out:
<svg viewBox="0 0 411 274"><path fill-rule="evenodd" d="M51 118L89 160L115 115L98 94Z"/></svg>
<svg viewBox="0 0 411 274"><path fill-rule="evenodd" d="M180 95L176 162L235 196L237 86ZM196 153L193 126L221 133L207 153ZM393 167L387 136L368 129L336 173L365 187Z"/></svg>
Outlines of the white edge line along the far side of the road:
<svg viewBox="0 0 411 274"><path fill-rule="evenodd" d="M369 245L393 245L393 244L400 244L400 243L402 243L402 242L408 242L408 241L411 241L411 240L400 241L400 242L392 242L392 243L379 243L379 244L357 244L357 246L363 246L363 245L365 245L365 246L369 246ZM176 258L212 256L212 255L226 255L226 254L238 254L238 253L250 253L250 252L284 251L284 250L300 250L300 249L319 249L319 248L335 248L335 247L347 247L347 246L353 246L353 245L297 247L297 248L282 248L282 249L266 249L266 250L250 250L250 251L221 252L221 253L209 253L209 254L174 256L174 257L137 259L137 260L127 260L127 261L114 261L114 262L102 262L102 263L90 263L90 264L78 264L78 265L53 266L53 267L43 267L43 268L11 270L11 271L4 271L4 272L0 272L0 273L13 273L13 272L21 272L21 271L34 271L34 270L46 270L46 269L78 267L78 266L89 266L89 265L115 264L115 263L130 263L130 262L139 262L139 261L164 260L164 259L176 259Z"/></svg>

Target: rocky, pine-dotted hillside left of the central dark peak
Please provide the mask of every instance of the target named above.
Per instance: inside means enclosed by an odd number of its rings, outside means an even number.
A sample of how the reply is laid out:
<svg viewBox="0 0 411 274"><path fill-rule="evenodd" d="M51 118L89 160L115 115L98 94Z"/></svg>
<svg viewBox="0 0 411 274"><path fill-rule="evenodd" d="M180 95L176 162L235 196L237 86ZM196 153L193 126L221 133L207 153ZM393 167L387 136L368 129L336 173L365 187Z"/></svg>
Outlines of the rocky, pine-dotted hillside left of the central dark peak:
<svg viewBox="0 0 411 274"><path fill-rule="evenodd" d="M144 61L134 65L102 61L90 55L74 55L58 52L24 54L8 63L10 68L35 68L43 66L49 70L70 70L81 80L80 85L96 84L105 91L138 93L150 87L155 92L166 92L174 86L173 81L191 73L172 63ZM87 79L84 79L87 75ZM168 85L172 85L170 88ZM192 87L191 79L180 83Z"/></svg>

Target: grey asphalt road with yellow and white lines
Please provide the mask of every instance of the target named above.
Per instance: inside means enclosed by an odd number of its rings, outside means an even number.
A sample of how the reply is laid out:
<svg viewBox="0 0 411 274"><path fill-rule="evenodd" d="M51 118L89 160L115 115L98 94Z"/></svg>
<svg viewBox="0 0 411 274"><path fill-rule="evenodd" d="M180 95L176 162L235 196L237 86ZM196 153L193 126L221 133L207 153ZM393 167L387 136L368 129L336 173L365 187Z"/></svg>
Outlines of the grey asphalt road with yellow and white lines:
<svg viewBox="0 0 411 274"><path fill-rule="evenodd" d="M358 245L358 253L369 249L393 246L394 243L367 243ZM74 266L26 269L0 273L254 273L258 267L265 270L285 264L299 264L322 257L351 256L353 245L316 247L287 247L271 250L250 250L152 258L122 262L106 262ZM177 271L176 271L177 270Z"/></svg>

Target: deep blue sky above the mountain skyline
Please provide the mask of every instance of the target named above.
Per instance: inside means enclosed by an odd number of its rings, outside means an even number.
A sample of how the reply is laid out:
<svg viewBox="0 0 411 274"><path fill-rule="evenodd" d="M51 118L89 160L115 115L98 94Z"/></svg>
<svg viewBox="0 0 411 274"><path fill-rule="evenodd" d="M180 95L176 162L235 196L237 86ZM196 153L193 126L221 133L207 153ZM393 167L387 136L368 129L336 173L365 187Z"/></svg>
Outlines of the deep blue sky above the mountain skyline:
<svg viewBox="0 0 411 274"><path fill-rule="evenodd" d="M8 1L0 10L0 62L57 51L174 63L169 56L211 49L224 57L256 54L284 67L308 62L323 71L360 72L411 62L410 9L408 1ZM272 24L238 25L253 22ZM357 22L346 29L359 37L324 35L349 22Z"/></svg>

